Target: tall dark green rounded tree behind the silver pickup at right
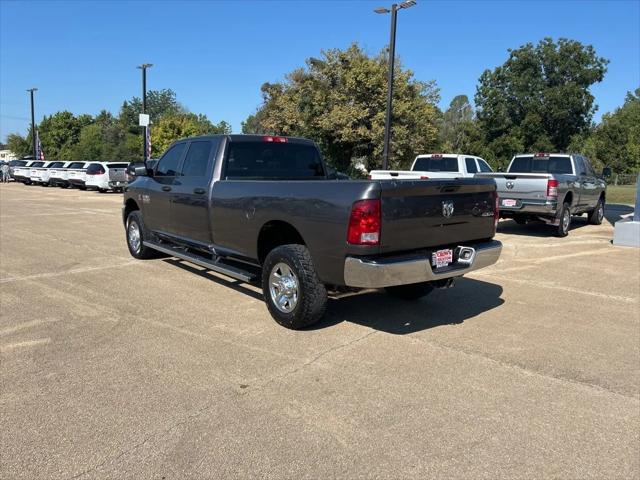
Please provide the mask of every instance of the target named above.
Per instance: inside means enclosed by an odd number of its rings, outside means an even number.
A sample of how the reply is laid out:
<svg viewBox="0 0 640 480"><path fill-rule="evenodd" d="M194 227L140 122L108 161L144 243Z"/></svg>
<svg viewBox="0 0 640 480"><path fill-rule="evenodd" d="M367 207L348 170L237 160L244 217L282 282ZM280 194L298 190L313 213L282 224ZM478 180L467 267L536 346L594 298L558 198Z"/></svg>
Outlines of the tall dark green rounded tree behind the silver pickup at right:
<svg viewBox="0 0 640 480"><path fill-rule="evenodd" d="M482 73L475 95L488 147L503 159L566 150L589 129L596 110L589 88L602 81L608 60L568 39L545 38L509 52L503 65Z"/></svg>

